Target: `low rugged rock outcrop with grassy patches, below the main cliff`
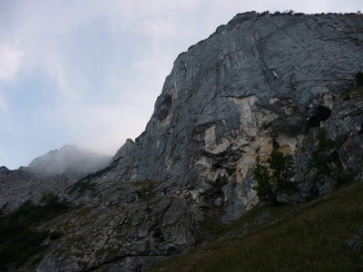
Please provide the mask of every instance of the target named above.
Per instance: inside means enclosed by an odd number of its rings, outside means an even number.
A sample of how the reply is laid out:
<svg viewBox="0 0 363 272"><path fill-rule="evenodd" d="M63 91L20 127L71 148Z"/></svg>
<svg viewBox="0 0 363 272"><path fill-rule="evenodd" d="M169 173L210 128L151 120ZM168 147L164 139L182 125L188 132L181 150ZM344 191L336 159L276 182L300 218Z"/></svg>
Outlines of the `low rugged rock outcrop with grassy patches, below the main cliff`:
<svg viewBox="0 0 363 272"><path fill-rule="evenodd" d="M39 271L138 271L193 246L198 211L187 199L155 196L157 186L146 180L93 191L82 208L42 226L66 235L52 245Z"/></svg>

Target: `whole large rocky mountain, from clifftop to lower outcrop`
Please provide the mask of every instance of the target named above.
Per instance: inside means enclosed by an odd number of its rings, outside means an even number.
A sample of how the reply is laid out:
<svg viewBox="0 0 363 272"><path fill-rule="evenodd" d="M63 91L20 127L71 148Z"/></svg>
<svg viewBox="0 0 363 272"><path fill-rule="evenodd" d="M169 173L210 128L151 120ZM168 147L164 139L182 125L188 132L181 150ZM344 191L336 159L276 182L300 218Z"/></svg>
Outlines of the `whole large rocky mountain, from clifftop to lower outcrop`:
<svg viewBox="0 0 363 272"><path fill-rule="evenodd" d="M64 191L72 209L29 219L38 251L6 266L140 271L208 243L206 226L259 204L253 170L274 146L299 185L280 202L361 182L362 49L363 15L236 15L177 57L145 131Z"/></svg>

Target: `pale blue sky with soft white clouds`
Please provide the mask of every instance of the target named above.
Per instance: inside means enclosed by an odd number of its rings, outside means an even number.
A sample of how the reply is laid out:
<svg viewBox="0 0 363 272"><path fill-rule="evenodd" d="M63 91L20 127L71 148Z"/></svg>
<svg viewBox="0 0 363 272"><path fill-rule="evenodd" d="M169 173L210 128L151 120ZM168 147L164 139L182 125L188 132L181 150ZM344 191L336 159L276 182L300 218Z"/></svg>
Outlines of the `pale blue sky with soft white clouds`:
<svg viewBox="0 0 363 272"><path fill-rule="evenodd" d="M179 53L255 10L357 12L362 0L0 0L0 166L142 133Z"/></svg>

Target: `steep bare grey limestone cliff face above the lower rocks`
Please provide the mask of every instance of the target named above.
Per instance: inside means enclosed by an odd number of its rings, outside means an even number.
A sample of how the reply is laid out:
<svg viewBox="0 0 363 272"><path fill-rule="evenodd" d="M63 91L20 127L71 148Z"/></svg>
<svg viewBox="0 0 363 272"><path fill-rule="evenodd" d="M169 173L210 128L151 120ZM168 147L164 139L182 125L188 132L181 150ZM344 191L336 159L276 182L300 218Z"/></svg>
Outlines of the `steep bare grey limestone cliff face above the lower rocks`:
<svg viewBox="0 0 363 272"><path fill-rule="evenodd" d="M94 182L162 181L197 197L224 177L226 218L256 204L257 155L295 153L363 70L362 15L236 15L178 56L146 130ZM345 131L347 132L347 131ZM234 204L231 204L234 203ZM230 207L231 206L231 207Z"/></svg>

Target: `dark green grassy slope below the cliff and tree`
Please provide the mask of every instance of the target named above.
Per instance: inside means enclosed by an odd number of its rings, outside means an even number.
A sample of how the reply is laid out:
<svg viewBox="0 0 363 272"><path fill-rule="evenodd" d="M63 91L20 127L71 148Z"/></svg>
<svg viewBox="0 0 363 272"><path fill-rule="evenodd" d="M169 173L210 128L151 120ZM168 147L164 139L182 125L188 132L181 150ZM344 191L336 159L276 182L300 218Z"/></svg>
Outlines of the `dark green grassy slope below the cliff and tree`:
<svg viewBox="0 0 363 272"><path fill-rule="evenodd" d="M264 215L270 224L259 228L254 222ZM241 234L253 224L260 230ZM309 204L253 209L231 225L212 229L217 237L234 230L233 238L217 238L150 271L363 271L359 229L363 232L362 182ZM351 239L360 247L349 248Z"/></svg>

